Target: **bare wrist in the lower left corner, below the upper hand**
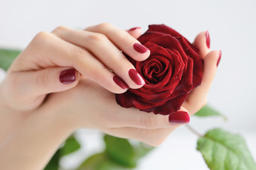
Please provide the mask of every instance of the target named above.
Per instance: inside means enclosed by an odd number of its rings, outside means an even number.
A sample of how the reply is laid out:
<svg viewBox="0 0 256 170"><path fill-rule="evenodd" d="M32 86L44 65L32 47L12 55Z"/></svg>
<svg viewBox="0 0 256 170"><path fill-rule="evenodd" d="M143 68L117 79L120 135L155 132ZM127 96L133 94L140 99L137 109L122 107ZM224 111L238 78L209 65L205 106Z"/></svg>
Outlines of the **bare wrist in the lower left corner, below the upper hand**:
<svg viewBox="0 0 256 170"><path fill-rule="evenodd" d="M57 114L41 106L14 129L8 142L1 145L0 169L43 169L72 132L73 129Z"/></svg>

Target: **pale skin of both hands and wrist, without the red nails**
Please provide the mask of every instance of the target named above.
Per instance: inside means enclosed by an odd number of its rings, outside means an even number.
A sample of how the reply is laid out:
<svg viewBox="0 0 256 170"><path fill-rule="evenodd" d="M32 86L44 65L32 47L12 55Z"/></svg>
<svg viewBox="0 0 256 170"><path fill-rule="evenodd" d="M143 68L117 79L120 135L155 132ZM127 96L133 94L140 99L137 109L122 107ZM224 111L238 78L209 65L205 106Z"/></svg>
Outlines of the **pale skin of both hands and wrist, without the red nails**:
<svg viewBox="0 0 256 170"><path fill-rule="evenodd" d="M0 169L43 169L61 143L78 128L160 145L179 125L168 115L122 108L114 93L117 74L129 88L138 89L129 77L134 66L122 55L142 61L150 52L134 50L142 30L121 30L109 23L73 30L63 26L36 35L21 52L0 85ZM206 103L217 71L219 51L210 51L206 32L194 45L204 59L203 81L181 107L193 115ZM109 69L113 72L110 72ZM60 72L75 68L75 81L60 82ZM47 98L46 98L47 96Z"/></svg>

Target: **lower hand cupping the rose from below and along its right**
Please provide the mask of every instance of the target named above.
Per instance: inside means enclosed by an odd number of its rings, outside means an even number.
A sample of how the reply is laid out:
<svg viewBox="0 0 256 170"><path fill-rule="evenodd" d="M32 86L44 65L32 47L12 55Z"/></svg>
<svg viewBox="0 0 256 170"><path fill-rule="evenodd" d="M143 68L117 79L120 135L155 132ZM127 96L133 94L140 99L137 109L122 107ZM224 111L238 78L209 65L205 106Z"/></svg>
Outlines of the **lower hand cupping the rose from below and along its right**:
<svg viewBox="0 0 256 170"><path fill-rule="evenodd" d="M217 71L220 51L211 51L206 45L206 32L200 33L194 42L204 58L203 81L188 96L181 107L193 115L206 104L210 85ZM68 91L52 94L46 107L53 107L64 124L74 130L77 128L93 128L117 137L124 137L146 142L149 145L160 145L169 134L178 127L180 113L171 115L154 115L136 108L122 108L114 94L95 84L89 79L81 78L78 86ZM184 123L181 123L184 124Z"/></svg>

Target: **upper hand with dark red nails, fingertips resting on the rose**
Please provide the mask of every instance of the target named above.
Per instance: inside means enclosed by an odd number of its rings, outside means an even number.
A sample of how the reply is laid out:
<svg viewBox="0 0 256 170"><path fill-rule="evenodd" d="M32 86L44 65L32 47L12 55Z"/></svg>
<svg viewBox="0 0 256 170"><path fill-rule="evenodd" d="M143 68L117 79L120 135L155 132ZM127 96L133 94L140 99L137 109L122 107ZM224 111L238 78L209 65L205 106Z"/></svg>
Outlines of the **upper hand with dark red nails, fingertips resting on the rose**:
<svg viewBox="0 0 256 170"><path fill-rule="evenodd" d="M138 89L144 80L121 51L146 60L150 52L136 39L141 34L140 28L125 31L109 23L38 33L11 65L0 93L11 108L31 111L47 94L76 86L80 74L113 93Z"/></svg>

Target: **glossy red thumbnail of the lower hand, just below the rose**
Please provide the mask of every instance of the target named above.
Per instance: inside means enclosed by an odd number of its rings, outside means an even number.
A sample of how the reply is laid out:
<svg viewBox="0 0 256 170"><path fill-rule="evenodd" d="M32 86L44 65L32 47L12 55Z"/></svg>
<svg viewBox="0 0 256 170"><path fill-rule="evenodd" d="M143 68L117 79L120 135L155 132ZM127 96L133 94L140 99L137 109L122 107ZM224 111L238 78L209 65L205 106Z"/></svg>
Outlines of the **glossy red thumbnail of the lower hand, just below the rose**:
<svg viewBox="0 0 256 170"><path fill-rule="evenodd" d="M186 124L189 123L189 115L185 111L178 111L169 115L169 123L172 124Z"/></svg>

